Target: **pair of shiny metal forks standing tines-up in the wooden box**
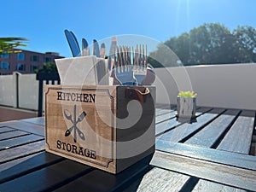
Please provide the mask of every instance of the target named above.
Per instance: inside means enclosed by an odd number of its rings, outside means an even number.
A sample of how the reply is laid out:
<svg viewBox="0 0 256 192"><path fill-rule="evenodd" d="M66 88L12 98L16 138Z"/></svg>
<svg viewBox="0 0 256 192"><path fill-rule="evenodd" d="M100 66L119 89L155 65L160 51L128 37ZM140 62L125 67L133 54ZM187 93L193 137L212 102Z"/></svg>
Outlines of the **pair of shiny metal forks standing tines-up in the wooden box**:
<svg viewBox="0 0 256 192"><path fill-rule="evenodd" d="M147 45L119 46L114 54L114 73L122 85L142 85L148 67Z"/></svg>

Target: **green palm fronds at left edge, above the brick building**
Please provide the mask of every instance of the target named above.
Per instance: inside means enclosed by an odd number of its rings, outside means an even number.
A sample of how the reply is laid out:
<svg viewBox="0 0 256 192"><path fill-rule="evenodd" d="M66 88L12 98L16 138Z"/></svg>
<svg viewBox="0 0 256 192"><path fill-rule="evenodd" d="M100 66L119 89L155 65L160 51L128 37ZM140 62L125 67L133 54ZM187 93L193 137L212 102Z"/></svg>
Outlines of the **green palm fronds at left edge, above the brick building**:
<svg viewBox="0 0 256 192"><path fill-rule="evenodd" d="M21 50L15 49L18 46L26 46L23 41L28 41L26 38L0 38L0 55L7 53L19 53Z"/></svg>

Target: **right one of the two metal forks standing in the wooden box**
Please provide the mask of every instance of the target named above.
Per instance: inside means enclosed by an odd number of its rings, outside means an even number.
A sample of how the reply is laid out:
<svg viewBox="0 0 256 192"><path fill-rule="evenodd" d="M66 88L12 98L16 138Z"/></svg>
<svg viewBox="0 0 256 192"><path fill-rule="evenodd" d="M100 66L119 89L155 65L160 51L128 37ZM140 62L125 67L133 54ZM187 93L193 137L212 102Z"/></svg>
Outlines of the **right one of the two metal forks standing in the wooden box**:
<svg viewBox="0 0 256 192"><path fill-rule="evenodd" d="M135 52L133 52L133 74L136 79L137 85L143 84L143 79L146 78L147 75L147 67L148 67L148 57L147 57L147 45L143 45L143 48L140 44L140 49L137 48Z"/></svg>

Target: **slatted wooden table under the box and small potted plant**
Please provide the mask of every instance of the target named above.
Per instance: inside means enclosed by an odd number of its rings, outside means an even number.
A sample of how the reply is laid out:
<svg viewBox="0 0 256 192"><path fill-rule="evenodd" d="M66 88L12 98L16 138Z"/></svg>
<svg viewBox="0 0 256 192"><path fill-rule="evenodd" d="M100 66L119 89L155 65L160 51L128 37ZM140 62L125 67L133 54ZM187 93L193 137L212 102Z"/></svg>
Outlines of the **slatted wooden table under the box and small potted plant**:
<svg viewBox="0 0 256 192"><path fill-rule="evenodd" d="M113 175L44 151L44 118L0 124L0 191L256 191L255 112L156 108L154 157Z"/></svg>

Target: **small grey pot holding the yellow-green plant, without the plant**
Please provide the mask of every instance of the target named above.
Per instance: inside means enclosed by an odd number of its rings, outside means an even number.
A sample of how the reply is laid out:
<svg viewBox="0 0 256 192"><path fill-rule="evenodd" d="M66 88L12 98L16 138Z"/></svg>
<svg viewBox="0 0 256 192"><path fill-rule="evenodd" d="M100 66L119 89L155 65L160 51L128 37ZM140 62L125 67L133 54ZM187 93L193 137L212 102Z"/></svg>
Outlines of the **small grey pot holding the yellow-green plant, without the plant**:
<svg viewBox="0 0 256 192"><path fill-rule="evenodd" d="M177 96L177 118L194 119L196 97Z"/></svg>

